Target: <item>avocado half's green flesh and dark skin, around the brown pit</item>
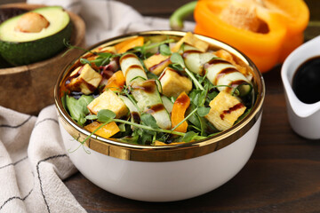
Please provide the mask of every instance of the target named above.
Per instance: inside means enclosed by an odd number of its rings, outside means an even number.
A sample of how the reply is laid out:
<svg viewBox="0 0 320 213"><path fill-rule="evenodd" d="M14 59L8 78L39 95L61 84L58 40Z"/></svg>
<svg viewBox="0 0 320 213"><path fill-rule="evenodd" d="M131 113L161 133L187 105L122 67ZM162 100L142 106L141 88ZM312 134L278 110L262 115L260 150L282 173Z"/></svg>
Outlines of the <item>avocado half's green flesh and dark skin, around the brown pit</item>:
<svg viewBox="0 0 320 213"><path fill-rule="evenodd" d="M48 20L48 27L40 32L20 32L16 27L23 14L0 25L0 54L13 66L49 59L62 51L66 47L63 41L71 37L72 23L62 7L49 6L32 12Z"/></svg>

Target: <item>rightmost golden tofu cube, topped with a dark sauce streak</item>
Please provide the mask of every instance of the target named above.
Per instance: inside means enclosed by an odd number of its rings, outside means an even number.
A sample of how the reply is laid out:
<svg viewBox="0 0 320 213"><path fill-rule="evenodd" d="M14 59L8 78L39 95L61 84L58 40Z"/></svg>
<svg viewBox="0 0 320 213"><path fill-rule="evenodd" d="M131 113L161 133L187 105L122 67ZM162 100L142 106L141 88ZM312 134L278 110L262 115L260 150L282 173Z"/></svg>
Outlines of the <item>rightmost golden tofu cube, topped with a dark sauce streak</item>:
<svg viewBox="0 0 320 213"><path fill-rule="evenodd" d="M228 130L241 114L245 106L227 91L220 93L210 102L210 112L204 117L218 130Z"/></svg>

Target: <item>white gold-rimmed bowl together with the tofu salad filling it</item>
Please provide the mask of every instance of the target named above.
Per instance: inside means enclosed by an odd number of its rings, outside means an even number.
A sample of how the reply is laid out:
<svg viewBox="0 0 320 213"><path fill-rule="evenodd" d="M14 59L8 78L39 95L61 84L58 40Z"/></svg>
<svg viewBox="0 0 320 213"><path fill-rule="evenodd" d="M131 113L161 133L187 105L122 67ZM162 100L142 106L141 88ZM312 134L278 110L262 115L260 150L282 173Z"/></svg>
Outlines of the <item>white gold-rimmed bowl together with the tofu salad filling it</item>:
<svg viewBox="0 0 320 213"><path fill-rule="evenodd" d="M256 144L264 94L244 54L180 31L97 43L62 70L54 89L76 168L140 201L188 199L234 177Z"/></svg>

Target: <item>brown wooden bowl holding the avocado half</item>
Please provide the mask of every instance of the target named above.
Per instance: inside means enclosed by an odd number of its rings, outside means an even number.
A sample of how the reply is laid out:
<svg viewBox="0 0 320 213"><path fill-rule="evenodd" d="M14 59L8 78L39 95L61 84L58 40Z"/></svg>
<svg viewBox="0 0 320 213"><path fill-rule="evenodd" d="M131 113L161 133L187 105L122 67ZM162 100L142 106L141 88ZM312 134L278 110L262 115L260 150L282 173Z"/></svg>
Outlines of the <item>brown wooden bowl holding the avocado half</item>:
<svg viewBox="0 0 320 213"><path fill-rule="evenodd" d="M4 4L0 8L15 7L29 11L44 6L40 4ZM73 22L71 43L85 47L84 20L75 13L68 13ZM36 115L44 106L53 104L53 88L60 70L83 52L74 49L61 57L66 50L51 59L30 65L0 68L0 106L12 108L20 113Z"/></svg>

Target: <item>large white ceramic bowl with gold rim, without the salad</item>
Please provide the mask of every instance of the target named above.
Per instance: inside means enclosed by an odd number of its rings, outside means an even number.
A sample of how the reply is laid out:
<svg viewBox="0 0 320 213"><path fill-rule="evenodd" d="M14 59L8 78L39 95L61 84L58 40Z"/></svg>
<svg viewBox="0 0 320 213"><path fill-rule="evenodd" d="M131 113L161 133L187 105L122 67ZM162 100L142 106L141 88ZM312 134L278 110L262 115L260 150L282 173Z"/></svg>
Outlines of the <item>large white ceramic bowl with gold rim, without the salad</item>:
<svg viewBox="0 0 320 213"><path fill-rule="evenodd" d="M138 35L180 37L185 33L152 31ZM132 36L137 35L120 36L103 43L112 45ZM76 168L93 184L134 200L179 201L212 191L244 167L260 129L265 95L262 76L252 61L239 51L212 38L198 37L211 43L213 48L232 52L252 67L257 100L251 113L231 129L213 138L183 145L139 146L92 137L86 143L86 149L91 154L80 148L69 153L69 156ZM64 145L67 150L74 150L79 146L75 138L85 138L90 132L73 122L61 104L60 83L68 75L68 70L66 68L60 74L55 87L55 102Z"/></svg>

